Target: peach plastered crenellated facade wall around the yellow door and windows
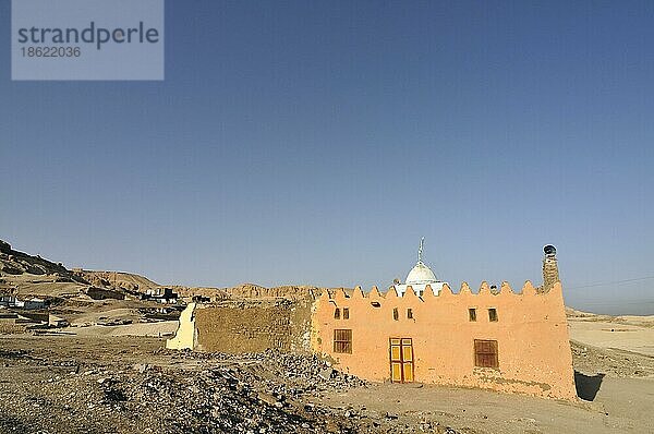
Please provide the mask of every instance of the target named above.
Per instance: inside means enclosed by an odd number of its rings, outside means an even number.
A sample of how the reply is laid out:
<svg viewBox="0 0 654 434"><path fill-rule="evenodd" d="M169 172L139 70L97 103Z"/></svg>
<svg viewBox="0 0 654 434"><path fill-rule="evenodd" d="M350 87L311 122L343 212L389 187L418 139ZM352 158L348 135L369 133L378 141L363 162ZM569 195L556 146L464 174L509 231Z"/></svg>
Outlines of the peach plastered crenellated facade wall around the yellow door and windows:
<svg viewBox="0 0 654 434"><path fill-rule="evenodd" d="M378 302L379 308L371 302ZM334 318L335 308L341 320ZM349 308L350 318L342 320ZM392 316L399 310L399 321ZM407 309L413 320L407 318ZM477 321L470 322L468 309L476 308ZM497 309L497 322L488 321L488 308ZM352 329L352 353L334 353L334 329ZM372 381L390 377L389 338L412 338L415 381L501 391L574 399L572 355L568 338L560 282L547 292L536 292L525 282L521 293L507 284L492 293L482 284L471 293L467 284L460 293L444 287L434 296L429 288L422 298L410 289L398 297L395 289L380 294L376 288L364 296L356 288L351 297L325 292L312 315L312 347L335 359L337 367ZM497 340L499 369L474 366L474 339Z"/></svg>

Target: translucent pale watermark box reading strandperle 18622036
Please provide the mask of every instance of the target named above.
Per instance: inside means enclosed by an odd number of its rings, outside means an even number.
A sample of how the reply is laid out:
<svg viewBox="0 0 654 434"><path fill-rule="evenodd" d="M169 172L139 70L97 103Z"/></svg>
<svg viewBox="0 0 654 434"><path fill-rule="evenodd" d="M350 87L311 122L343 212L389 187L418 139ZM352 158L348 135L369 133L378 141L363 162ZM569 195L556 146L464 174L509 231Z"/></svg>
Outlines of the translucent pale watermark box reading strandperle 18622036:
<svg viewBox="0 0 654 434"><path fill-rule="evenodd" d="M12 0L12 80L164 80L164 0Z"/></svg>

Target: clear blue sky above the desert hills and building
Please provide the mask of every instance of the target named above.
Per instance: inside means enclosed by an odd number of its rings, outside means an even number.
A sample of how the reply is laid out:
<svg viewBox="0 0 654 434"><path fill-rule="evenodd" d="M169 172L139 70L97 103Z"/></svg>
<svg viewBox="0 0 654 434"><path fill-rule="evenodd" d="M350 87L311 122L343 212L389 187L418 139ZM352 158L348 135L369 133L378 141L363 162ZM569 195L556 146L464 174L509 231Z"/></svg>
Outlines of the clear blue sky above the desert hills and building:
<svg viewBox="0 0 654 434"><path fill-rule="evenodd" d="M553 243L568 304L654 314L654 2L167 1L164 82L12 82L0 28L15 249L386 288L424 236L518 289Z"/></svg>

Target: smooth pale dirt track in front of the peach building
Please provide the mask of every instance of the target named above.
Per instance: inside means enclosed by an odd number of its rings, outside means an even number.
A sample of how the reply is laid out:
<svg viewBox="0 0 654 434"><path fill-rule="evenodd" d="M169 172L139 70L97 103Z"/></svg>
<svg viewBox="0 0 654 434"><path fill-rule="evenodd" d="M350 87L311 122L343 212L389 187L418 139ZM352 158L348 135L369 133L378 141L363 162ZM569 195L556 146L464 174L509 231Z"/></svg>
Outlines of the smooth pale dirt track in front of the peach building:
<svg viewBox="0 0 654 434"><path fill-rule="evenodd" d="M593 402L429 385L380 384L324 397L330 406L437 421L470 433L652 433L654 378L605 377Z"/></svg>

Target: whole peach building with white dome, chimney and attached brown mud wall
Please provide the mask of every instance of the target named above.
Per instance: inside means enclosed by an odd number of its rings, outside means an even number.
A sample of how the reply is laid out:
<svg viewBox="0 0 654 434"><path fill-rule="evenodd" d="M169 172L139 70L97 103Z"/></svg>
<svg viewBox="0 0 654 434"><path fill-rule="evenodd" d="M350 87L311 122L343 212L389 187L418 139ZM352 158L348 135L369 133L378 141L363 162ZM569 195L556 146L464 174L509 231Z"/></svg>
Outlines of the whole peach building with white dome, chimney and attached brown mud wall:
<svg viewBox="0 0 654 434"><path fill-rule="evenodd" d="M455 293L423 262L382 293L342 289L303 300L191 303L168 348L313 352L359 377L574 399L572 357L556 249L543 286L520 292L464 282Z"/></svg>

